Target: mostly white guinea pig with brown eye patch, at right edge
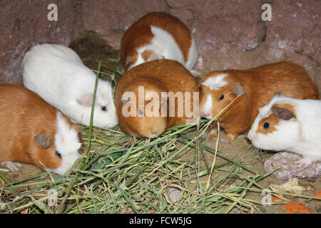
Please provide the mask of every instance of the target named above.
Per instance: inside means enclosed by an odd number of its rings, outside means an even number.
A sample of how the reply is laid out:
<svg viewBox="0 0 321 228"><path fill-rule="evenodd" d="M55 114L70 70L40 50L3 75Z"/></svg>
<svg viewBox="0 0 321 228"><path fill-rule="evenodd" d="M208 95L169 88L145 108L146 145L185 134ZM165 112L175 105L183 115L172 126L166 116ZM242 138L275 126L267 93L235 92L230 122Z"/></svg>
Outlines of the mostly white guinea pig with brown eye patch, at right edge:
<svg viewBox="0 0 321 228"><path fill-rule="evenodd" d="M255 147L302 155L300 162L321 161L321 100L300 100L276 93L260 108L248 132Z"/></svg>

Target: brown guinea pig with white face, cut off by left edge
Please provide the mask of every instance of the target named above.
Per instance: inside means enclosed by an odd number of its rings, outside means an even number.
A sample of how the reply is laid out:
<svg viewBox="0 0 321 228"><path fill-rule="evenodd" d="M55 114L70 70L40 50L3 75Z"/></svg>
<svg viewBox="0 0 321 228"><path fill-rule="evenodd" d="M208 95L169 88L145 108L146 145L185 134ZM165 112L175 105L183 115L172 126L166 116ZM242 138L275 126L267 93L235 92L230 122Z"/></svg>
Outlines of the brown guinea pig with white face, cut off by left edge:
<svg viewBox="0 0 321 228"><path fill-rule="evenodd" d="M63 175L81 157L76 125L31 90L0 84L0 162L36 165Z"/></svg>

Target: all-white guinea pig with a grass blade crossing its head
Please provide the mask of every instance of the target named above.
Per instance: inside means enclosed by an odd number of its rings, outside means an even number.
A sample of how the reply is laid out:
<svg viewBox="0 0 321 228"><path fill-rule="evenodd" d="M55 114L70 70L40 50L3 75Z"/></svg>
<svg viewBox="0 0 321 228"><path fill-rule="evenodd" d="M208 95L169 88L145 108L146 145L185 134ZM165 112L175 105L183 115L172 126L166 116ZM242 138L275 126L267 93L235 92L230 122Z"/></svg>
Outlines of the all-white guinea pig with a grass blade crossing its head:
<svg viewBox="0 0 321 228"><path fill-rule="evenodd" d="M96 74L66 46L43 43L30 48L22 61L24 86L38 93L69 118L89 125ZM98 79L93 125L118 125L111 82Z"/></svg>

